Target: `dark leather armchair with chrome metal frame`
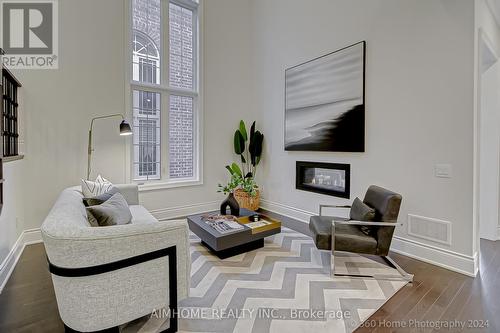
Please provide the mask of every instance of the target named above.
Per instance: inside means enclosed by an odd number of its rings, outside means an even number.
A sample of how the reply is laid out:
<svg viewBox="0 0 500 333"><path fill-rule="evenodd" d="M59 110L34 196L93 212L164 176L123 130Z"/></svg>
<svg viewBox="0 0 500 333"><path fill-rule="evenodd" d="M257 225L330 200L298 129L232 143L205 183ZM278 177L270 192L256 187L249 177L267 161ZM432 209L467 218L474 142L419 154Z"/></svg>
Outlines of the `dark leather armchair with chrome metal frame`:
<svg viewBox="0 0 500 333"><path fill-rule="evenodd" d="M350 209L351 206L320 205L319 215L311 216L309 229L318 249L331 250L332 275L339 275L335 274L335 251L343 251L380 256L396 268L404 280L413 280L413 275L406 273L388 257L401 201L402 197L398 193L379 186L370 186L363 203L375 210L373 221L325 216L324 208Z"/></svg>

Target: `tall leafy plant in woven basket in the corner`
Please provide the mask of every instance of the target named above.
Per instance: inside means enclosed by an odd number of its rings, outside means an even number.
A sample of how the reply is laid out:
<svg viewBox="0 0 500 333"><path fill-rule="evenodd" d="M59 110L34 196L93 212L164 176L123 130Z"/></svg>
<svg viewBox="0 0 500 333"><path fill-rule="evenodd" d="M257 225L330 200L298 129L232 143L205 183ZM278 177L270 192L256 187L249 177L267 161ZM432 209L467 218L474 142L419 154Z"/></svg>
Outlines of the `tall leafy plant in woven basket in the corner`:
<svg viewBox="0 0 500 333"><path fill-rule="evenodd" d="M240 156L241 167L236 163L226 166L231 180L225 186L219 184L218 192L232 193L241 208L259 208L260 192L255 175L262 156L263 141L264 135L255 130L255 121L250 127L250 133L247 133L245 122L240 121L239 128L234 133L234 152Z"/></svg>

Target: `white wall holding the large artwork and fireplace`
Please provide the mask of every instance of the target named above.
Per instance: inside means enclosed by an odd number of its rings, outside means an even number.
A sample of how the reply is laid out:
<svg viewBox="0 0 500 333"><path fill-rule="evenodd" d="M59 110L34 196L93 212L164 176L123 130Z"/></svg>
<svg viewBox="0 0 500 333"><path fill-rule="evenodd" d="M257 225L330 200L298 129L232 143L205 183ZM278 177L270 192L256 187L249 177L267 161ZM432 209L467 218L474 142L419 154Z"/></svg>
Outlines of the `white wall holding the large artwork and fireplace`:
<svg viewBox="0 0 500 333"><path fill-rule="evenodd" d="M256 0L252 9L254 105L267 135L265 199L306 212L317 212L320 203L348 203L295 190L294 181L297 160L350 163L351 200L370 184L401 193L399 237L413 239L408 214L447 220L451 246L413 240L470 260L473 3ZM284 70L361 40L367 42L366 152L284 151ZM453 177L436 178L437 163L451 164Z"/></svg>

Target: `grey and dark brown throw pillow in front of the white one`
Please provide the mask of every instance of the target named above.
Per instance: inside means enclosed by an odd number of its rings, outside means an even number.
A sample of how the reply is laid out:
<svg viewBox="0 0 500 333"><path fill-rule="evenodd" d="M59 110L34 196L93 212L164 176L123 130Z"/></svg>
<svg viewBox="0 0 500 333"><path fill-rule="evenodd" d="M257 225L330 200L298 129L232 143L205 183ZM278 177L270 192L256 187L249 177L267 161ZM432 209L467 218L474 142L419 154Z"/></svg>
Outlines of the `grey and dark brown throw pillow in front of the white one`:
<svg viewBox="0 0 500 333"><path fill-rule="evenodd" d="M127 201L120 193L115 193L104 203L86 208L89 223L93 227L107 227L128 224L132 213Z"/></svg>

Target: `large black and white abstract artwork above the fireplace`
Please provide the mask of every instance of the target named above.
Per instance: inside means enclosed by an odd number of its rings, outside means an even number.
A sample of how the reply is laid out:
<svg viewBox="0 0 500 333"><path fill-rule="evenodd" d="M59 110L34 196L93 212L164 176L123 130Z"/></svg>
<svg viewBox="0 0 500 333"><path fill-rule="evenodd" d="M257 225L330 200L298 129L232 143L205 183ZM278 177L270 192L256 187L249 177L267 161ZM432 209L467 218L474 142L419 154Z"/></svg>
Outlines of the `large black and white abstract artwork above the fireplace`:
<svg viewBox="0 0 500 333"><path fill-rule="evenodd" d="M285 150L365 150L365 46L285 71Z"/></svg>

